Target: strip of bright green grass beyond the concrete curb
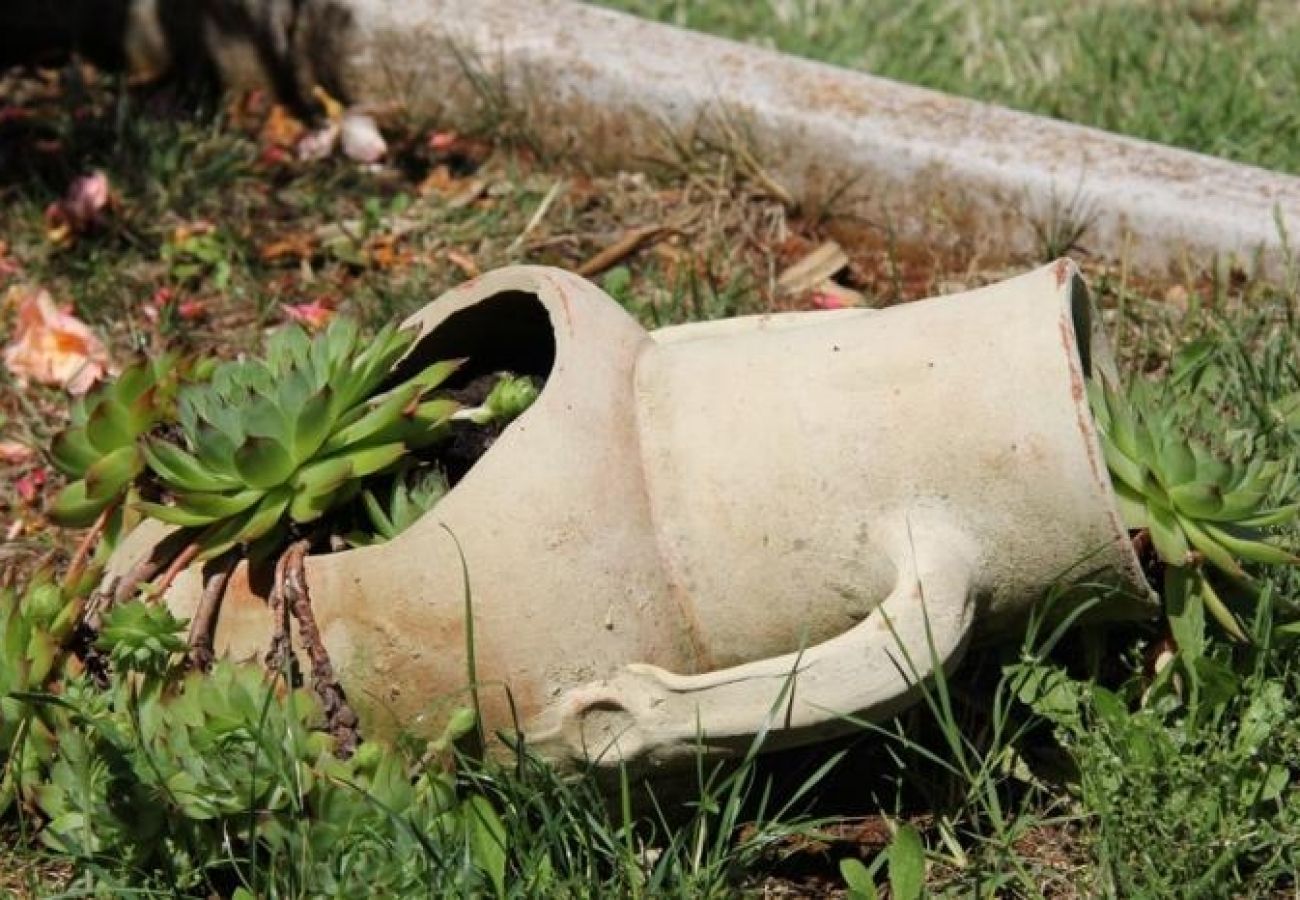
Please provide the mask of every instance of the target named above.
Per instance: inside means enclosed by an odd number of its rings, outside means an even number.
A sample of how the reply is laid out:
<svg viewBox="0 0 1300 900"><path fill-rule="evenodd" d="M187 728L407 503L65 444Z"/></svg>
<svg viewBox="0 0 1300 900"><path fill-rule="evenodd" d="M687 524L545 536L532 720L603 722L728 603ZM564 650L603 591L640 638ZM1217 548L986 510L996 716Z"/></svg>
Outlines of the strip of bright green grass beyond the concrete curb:
<svg viewBox="0 0 1300 900"><path fill-rule="evenodd" d="M1280 0L599 3L1300 173L1300 10Z"/></svg>

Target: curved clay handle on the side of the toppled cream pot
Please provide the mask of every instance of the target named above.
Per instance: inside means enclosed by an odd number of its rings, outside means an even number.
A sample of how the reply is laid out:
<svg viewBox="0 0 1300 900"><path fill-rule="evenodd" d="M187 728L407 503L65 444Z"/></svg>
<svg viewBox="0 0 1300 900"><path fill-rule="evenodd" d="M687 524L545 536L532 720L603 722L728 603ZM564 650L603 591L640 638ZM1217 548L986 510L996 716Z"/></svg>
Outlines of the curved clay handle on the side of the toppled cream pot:
<svg viewBox="0 0 1300 900"><path fill-rule="evenodd" d="M890 541L898 580L842 635L801 652L677 675L632 663L568 692L530 741L577 763L667 765L698 750L744 753L852 730L907 706L961 661L972 619L974 544L946 516L905 516Z"/></svg>

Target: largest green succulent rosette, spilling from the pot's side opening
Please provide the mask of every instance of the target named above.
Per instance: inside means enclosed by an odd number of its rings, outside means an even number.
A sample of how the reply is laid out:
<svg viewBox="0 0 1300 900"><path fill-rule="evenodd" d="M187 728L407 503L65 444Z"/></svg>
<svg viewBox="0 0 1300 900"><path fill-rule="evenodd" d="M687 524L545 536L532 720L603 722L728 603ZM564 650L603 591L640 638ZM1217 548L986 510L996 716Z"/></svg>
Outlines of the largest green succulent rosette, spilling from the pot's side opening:
<svg viewBox="0 0 1300 900"><path fill-rule="evenodd" d="M150 516L199 529L198 558L309 523L350 498L359 480L439 440L458 404L428 398L459 365L439 362L385 385L415 333L394 326L361 341L337 317L309 338L277 332L265 359L229 362L178 399L178 440L153 437L143 453L172 503L143 502Z"/></svg>

